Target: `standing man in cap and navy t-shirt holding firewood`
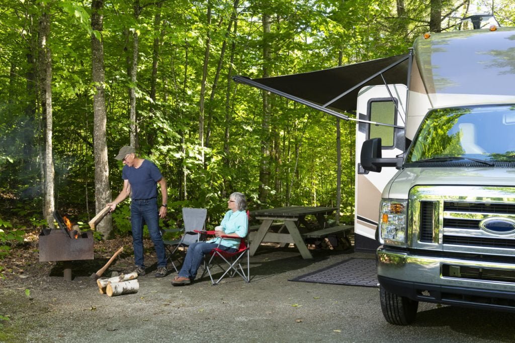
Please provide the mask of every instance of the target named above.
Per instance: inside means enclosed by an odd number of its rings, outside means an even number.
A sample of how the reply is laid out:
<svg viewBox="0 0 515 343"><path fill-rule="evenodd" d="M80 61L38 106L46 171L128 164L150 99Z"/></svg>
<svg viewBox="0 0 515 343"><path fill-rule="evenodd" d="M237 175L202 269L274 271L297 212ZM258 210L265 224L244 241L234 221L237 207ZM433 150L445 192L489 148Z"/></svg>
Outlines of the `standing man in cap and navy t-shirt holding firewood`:
<svg viewBox="0 0 515 343"><path fill-rule="evenodd" d="M124 164L122 169L124 188L116 196L115 200L107 205L111 206L112 212L116 205L131 195L132 246L134 248L134 263L136 265L134 272L138 273L138 275L146 274L143 256L143 224L147 224L148 232L158 258L156 277L162 278L168 272L166 270L166 252L163 237L159 229L159 218L166 216L166 201L168 198L166 180L155 164L136 156L135 150L132 147L122 147L115 158L121 160ZM161 197L163 200L159 207L159 212L157 208L157 184L161 186Z"/></svg>

